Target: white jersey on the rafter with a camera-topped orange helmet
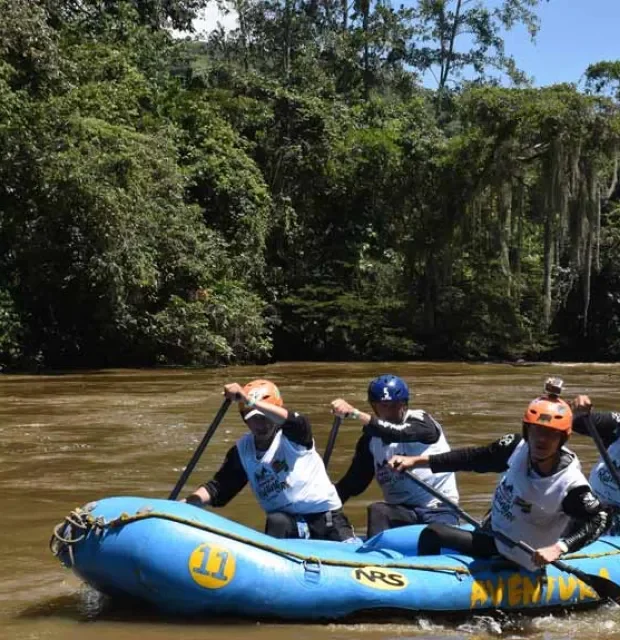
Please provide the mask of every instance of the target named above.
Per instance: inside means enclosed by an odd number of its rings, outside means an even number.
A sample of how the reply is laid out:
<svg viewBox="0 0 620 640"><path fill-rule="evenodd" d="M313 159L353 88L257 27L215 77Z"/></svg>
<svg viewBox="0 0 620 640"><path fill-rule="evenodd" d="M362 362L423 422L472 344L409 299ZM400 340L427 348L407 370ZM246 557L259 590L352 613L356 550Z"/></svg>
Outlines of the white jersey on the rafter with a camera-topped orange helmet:
<svg viewBox="0 0 620 640"><path fill-rule="evenodd" d="M581 472L577 456L568 466L551 476L540 476L529 462L529 447L522 440L508 459L508 470L493 496L491 525L515 541L526 542L534 549L555 544L566 531L571 517L562 510L562 501L576 487L589 487ZM496 540L498 551L529 571L538 567L525 551L508 547Z"/></svg>

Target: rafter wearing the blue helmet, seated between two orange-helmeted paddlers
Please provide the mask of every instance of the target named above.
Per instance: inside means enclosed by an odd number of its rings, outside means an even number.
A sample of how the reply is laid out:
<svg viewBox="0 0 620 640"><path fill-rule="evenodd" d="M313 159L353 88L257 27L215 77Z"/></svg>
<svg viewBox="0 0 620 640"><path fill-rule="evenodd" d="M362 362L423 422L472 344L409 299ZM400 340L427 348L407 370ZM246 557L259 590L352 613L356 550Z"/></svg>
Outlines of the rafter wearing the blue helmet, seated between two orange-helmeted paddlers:
<svg viewBox="0 0 620 640"><path fill-rule="evenodd" d="M362 436L351 465L336 483L343 504L366 490L373 477L383 491L383 502L368 507L368 537L386 529L410 524L442 522L458 524L458 517L406 474L388 465L395 455L428 455L450 451L439 422L421 409L409 409L409 388L402 378L380 375L368 385L368 402L373 413L355 408L343 398L334 400L332 412L359 420ZM407 452L407 453L405 453ZM415 452L415 453L414 453ZM458 502L454 473L431 473L416 469L424 481Z"/></svg>

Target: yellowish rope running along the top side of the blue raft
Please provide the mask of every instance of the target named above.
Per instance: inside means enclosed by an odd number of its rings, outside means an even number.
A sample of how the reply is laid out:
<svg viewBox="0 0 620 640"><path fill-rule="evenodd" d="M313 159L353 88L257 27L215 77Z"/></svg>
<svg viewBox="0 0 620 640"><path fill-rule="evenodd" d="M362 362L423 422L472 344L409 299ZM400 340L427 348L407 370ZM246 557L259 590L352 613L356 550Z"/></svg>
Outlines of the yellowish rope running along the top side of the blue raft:
<svg viewBox="0 0 620 640"><path fill-rule="evenodd" d="M235 542L247 544L256 549L262 551L269 551L275 555L283 557L287 560L297 562L298 564L315 564L332 567L351 567L351 568L363 568L372 565L372 562L360 562L355 560L335 560L331 558L318 558L316 556L306 556L295 551L286 551L280 549L274 545L267 544L265 542L259 542L246 536L242 536L230 531L224 531L213 527L211 525L203 524L196 520L188 520L180 516L175 516L169 513L160 513L157 511L138 511L137 513L130 515L128 513L121 513L118 518L106 521L102 516L94 517L88 511L81 508L73 510L65 519L54 527L52 538L50 540L50 549L55 556L60 555L64 551L67 551L71 560L71 565L74 565L72 547L78 542L82 541L92 530L95 535L101 535L106 529L113 529L115 527L124 527L134 522L140 522L142 520L148 520L156 518L160 520L168 520L178 524L184 524L201 531L206 531ZM599 553L573 553L564 557L565 560L582 560L582 559L595 559L620 555L620 549L615 545L613 551L604 551ZM453 573L459 579L462 579L464 575L471 575L471 571L467 566L444 566L444 565L432 565L432 564L415 564L411 562L387 562L376 565L386 569L406 569L417 571L431 571L435 573Z"/></svg>

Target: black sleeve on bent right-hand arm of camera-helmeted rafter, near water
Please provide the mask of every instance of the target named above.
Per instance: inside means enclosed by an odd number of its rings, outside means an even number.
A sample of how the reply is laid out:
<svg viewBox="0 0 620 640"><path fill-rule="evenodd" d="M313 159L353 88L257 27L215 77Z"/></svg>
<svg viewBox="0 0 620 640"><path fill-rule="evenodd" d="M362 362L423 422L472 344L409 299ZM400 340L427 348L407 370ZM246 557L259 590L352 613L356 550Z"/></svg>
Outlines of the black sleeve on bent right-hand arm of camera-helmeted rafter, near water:
<svg viewBox="0 0 620 640"><path fill-rule="evenodd" d="M588 486L569 491L562 501L562 509L575 519L575 526L563 538L569 551L577 551L594 542L609 523L609 513L603 509Z"/></svg>

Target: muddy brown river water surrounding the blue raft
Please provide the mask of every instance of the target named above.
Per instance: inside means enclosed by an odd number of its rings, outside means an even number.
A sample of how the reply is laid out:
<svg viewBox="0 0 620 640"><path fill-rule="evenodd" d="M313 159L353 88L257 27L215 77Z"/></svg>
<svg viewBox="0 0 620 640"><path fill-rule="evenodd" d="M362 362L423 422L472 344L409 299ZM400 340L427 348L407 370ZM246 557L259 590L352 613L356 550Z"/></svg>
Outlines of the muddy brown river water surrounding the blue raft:
<svg viewBox="0 0 620 640"><path fill-rule="evenodd" d="M620 608L537 618L420 618L400 623L291 625L247 621L184 623L111 605L80 584L48 550L53 525L73 508L113 495L166 497L222 402L225 382L268 377L289 408L306 413L323 450L332 417L329 402L344 397L367 409L368 380L394 372L410 384L414 408L444 425L453 447L483 444L520 430L527 403L549 375L565 380L566 399L589 393L600 410L620 410L620 365L469 365L460 363L314 364L215 370L104 371L54 376L0 377L0 638L18 640L341 640L443 638L613 638ZM225 452L245 432L229 411L187 485L209 479ZM329 472L346 470L360 425L345 421ZM587 472L593 443L574 436L571 447ZM461 504L485 512L497 477L459 474ZM186 492L183 492L184 494ZM372 486L346 511L358 531ZM251 527L263 514L246 489L221 510Z"/></svg>

